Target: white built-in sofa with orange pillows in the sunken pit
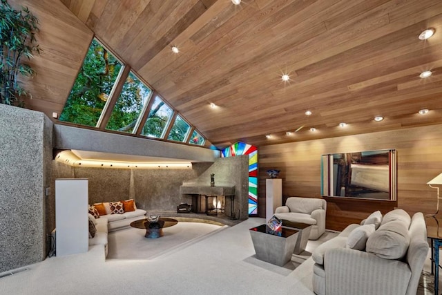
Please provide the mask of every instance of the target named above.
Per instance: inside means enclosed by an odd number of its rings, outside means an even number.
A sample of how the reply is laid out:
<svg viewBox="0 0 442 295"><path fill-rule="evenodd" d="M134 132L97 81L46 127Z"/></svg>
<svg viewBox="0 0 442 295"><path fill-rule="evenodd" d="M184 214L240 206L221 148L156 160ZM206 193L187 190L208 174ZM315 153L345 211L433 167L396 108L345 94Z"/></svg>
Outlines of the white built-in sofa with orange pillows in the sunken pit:
<svg viewBox="0 0 442 295"><path fill-rule="evenodd" d="M103 204L105 207L108 206L108 203ZM127 211L124 213L112 213L110 211L106 211L106 213L109 212L109 214L99 215L98 218L95 218L97 216L97 213L95 213L94 215L89 213L89 220L92 220L95 225L95 235L93 236L93 238L90 238L89 236L89 247L93 245L103 245L104 253L107 256L108 232L128 227L129 225L131 225L131 222L142 219L146 215L146 211L143 209L137 209L136 207L134 207L133 209L134 211ZM92 210L89 210L89 212L91 211ZM102 213L104 212L102 211Z"/></svg>

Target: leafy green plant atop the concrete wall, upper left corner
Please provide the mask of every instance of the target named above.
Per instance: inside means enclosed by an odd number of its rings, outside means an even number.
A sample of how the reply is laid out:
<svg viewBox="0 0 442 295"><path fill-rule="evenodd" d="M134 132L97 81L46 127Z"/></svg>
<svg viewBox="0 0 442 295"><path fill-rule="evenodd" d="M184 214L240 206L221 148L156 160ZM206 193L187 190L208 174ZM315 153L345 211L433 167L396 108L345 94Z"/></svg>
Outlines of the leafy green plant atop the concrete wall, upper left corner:
<svg viewBox="0 0 442 295"><path fill-rule="evenodd" d="M21 57L29 60L40 53L35 39L39 20L28 8L15 10L7 0L0 1L0 99L2 104L22 106L19 98L30 93L21 88L17 76L37 74Z"/></svg>

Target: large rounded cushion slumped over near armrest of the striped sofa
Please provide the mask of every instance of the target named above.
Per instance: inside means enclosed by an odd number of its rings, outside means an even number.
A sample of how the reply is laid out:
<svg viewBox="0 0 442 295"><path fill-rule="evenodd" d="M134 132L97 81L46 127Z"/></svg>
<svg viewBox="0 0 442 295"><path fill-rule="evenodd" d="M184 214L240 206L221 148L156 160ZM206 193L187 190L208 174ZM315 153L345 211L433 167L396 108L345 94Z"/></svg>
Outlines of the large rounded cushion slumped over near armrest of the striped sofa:
<svg viewBox="0 0 442 295"><path fill-rule="evenodd" d="M403 220L393 220L369 236L365 251L385 259L401 259L407 253L408 245L408 228Z"/></svg>

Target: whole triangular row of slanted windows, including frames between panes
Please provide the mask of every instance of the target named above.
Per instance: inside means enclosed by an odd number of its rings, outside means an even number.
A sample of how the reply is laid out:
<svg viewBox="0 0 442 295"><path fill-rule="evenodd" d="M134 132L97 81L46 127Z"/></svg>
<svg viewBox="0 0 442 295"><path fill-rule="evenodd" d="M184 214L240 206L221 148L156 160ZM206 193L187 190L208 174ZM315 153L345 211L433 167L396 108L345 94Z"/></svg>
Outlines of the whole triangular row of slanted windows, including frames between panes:
<svg viewBox="0 0 442 295"><path fill-rule="evenodd" d="M203 146L205 138L162 97L155 95L152 99L154 92L142 77L94 38L58 120L101 131ZM57 118L57 113L52 117Z"/></svg>

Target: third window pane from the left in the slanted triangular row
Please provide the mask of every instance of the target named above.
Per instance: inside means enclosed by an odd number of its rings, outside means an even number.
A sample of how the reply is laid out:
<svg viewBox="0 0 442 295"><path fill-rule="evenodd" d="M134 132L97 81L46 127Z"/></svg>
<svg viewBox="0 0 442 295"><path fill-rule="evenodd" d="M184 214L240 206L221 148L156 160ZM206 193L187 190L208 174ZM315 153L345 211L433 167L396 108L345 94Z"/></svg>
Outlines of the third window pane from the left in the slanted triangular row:
<svg viewBox="0 0 442 295"><path fill-rule="evenodd" d="M141 131L142 135L163 138L166 126L173 115L173 109L169 107L159 96L155 100L149 111L146 123Z"/></svg>

